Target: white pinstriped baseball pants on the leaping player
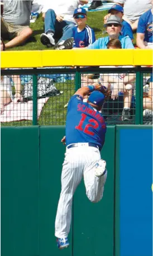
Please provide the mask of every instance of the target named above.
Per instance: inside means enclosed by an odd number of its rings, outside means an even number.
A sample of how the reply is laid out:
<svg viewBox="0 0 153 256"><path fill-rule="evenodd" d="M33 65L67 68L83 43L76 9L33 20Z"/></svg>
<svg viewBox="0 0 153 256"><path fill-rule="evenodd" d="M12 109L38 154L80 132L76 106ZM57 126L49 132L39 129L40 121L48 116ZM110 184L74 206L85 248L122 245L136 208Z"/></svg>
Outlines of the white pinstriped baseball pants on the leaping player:
<svg viewBox="0 0 153 256"><path fill-rule="evenodd" d="M55 220L55 236L66 238L70 231L71 205L76 187L82 176L86 195L91 202L102 199L107 172L101 176L94 175L94 168L101 159L98 148L87 146L66 149L63 170L61 173L61 193Z"/></svg>

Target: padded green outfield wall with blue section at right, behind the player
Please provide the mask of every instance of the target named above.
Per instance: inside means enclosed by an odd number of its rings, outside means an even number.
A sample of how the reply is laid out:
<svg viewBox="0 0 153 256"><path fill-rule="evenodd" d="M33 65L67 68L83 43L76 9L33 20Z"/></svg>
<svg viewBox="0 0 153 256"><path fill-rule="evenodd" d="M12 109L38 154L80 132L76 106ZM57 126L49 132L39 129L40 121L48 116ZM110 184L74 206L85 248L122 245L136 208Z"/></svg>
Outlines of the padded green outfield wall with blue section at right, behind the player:
<svg viewBox="0 0 153 256"><path fill-rule="evenodd" d="M152 127L108 127L103 199L90 202L82 181L73 200L70 247L60 251L54 223L64 134L64 126L1 128L1 255L151 256Z"/></svg>

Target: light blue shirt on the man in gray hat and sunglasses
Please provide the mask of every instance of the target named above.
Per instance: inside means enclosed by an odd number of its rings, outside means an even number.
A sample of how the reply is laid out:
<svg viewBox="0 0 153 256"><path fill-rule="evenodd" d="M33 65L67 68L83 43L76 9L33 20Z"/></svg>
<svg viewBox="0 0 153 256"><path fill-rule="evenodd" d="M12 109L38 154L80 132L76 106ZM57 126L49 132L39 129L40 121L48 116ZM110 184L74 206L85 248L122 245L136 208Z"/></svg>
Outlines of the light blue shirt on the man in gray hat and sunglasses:
<svg viewBox="0 0 153 256"><path fill-rule="evenodd" d="M122 49L134 49L132 41L129 36L118 36L119 41L121 41ZM109 36L101 37L96 40L92 45L88 46L88 49L107 49L107 43L109 41Z"/></svg>

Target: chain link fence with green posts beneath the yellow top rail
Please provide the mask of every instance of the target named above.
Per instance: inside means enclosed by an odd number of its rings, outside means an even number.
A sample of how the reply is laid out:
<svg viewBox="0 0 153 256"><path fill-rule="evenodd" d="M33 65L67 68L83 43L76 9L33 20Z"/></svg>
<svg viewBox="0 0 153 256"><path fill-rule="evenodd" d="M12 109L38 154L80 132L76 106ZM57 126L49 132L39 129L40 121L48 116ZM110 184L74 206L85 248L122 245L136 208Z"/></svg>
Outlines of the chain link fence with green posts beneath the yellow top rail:
<svg viewBox="0 0 153 256"><path fill-rule="evenodd" d="M65 125L70 97L94 82L111 90L102 108L108 125L152 124L151 73L127 66L1 69L1 125Z"/></svg>

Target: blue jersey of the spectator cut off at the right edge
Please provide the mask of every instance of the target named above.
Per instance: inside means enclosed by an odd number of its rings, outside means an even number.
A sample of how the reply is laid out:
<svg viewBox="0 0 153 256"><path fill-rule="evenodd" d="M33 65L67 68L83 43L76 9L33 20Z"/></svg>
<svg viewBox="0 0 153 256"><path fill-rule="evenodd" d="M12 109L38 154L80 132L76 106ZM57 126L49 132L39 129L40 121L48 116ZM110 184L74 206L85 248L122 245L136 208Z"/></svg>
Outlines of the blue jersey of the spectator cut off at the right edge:
<svg viewBox="0 0 153 256"><path fill-rule="evenodd" d="M152 42L152 12L142 14L138 20L137 33L145 34L144 41Z"/></svg>

